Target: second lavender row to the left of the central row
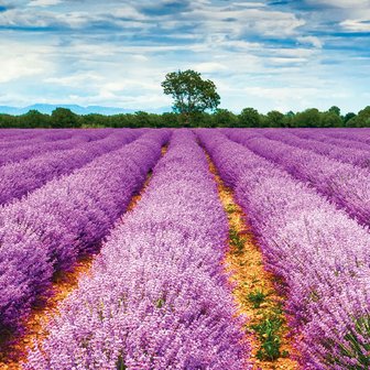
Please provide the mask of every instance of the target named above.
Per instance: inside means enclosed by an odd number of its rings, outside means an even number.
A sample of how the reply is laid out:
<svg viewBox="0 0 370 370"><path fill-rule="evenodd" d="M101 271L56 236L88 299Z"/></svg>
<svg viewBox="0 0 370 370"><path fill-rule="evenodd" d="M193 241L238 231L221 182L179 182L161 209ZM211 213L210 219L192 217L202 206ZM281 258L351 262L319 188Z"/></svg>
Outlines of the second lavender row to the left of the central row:
<svg viewBox="0 0 370 370"><path fill-rule="evenodd" d="M94 159L140 135L140 131L120 130L96 141L69 140L69 149L51 150L29 160L0 166L0 204L34 191L54 177L69 174Z"/></svg>

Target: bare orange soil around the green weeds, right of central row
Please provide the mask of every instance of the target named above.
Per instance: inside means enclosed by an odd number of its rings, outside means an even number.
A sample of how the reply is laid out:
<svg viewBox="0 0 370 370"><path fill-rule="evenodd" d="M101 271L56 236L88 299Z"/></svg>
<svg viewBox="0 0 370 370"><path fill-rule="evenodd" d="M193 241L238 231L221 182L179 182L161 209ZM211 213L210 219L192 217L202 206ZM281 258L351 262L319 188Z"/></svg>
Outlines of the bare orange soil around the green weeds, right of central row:
<svg viewBox="0 0 370 370"><path fill-rule="evenodd" d="M252 353L249 362L253 364L253 370L297 370L300 369L297 358L298 353L293 347L294 337L286 325L286 317L282 312L284 297L279 295L274 289L276 276L264 269L263 254L258 246L251 228L247 224L247 217L241 207L236 203L233 192L227 187L219 176L215 164L207 155L209 170L215 176L219 198L228 214L229 228L233 230L242 241L242 249L236 248L229 240L229 249L225 259L225 268L230 273L230 282L233 285L233 296L238 305L239 314L248 317L246 325L246 336L251 344ZM248 298L251 292L263 292L266 297L255 308ZM279 315L283 325L279 331L281 337L281 352L284 356L274 361L260 360L257 357L261 342L255 335L252 326L261 323L265 317ZM285 353L284 353L285 352Z"/></svg>

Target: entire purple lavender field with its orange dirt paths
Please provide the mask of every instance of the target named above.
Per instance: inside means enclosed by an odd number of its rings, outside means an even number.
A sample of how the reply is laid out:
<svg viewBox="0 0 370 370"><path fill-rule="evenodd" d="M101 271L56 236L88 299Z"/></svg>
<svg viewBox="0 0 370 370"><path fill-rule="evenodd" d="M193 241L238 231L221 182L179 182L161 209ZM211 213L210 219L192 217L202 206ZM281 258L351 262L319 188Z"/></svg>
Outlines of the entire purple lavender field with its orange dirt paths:
<svg viewBox="0 0 370 370"><path fill-rule="evenodd" d="M10 129L0 152L0 369L370 368L370 129Z"/></svg>

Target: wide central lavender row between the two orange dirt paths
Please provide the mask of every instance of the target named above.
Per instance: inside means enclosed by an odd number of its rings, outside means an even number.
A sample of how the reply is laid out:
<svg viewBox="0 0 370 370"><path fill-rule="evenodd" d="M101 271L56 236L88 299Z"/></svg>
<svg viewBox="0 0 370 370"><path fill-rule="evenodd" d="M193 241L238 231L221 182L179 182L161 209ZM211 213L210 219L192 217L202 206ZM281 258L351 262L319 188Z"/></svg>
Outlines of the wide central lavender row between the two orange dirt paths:
<svg viewBox="0 0 370 370"><path fill-rule="evenodd" d="M26 369L249 369L221 265L227 236L205 154L175 132Z"/></svg>

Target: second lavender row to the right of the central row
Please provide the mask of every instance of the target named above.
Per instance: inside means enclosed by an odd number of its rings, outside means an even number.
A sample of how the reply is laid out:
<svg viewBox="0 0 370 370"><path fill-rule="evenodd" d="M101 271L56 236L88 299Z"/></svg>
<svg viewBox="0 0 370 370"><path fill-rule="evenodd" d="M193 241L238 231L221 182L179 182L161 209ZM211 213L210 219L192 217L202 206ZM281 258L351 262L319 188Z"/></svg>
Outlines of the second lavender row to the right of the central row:
<svg viewBox="0 0 370 370"><path fill-rule="evenodd" d="M248 130L227 135L254 153L279 164L296 178L314 186L361 225L370 225L369 171L309 150L270 140Z"/></svg>

